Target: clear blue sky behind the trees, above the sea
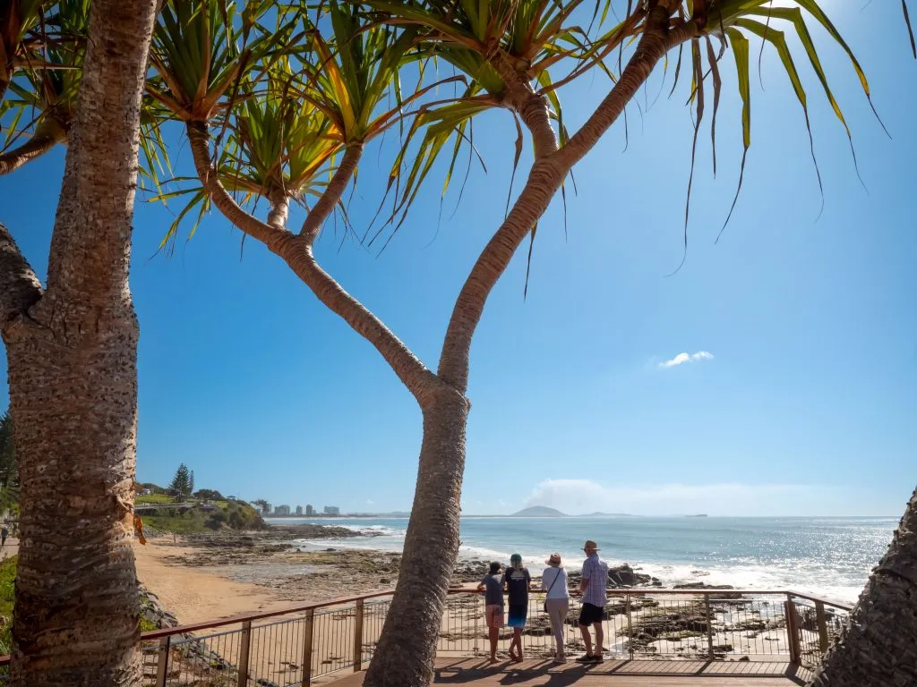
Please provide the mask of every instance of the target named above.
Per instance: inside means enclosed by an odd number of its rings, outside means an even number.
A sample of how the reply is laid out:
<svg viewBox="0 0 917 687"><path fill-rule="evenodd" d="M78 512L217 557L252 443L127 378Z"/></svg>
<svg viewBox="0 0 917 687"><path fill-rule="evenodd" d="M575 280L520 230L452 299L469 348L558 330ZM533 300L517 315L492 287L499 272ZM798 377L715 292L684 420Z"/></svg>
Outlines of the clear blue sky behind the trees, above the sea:
<svg viewBox="0 0 917 687"><path fill-rule="evenodd" d="M687 260L666 277L681 259L692 126L688 82L647 111L658 71L640 95L642 121L629 112L628 149L619 122L575 169L566 238L559 199L539 225L527 299L524 248L488 303L472 350L466 512L536 503L646 514L901 512L917 481L917 64L900 7L847 5L826 6L892 139L843 52L816 37L868 192L800 57L824 182L818 218L801 109L766 52L765 90L757 74L752 84L745 190L714 245L741 153L727 57L718 175L702 133ZM562 92L569 125L607 89L596 74ZM435 170L381 256L353 241L341 247L331 225L318 247L326 268L431 366L458 289L503 217L509 116L482 118L475 143L488 173L472 169L454 215L456 192L437 223ZM360 167L350 209L358 230L375 212L388 152L371 151ZM0 178L0 219L42 274L62 162L59 149ZM217 214L190 241L182 236L174 256L156 256L170 222L161 206L138 202L138 478L165 483L184 462L198 486L251 499L407 509L420 414L381 357L260 245L240 251L240 234ZM679 354L695 359L662 365Z"/></svg>

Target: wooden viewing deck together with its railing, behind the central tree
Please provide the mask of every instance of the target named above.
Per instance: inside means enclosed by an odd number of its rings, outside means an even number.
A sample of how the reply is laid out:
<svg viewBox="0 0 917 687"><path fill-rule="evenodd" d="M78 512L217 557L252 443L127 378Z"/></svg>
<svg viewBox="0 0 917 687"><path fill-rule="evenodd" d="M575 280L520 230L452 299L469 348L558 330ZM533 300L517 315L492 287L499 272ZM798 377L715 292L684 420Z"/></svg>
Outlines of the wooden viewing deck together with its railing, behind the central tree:
<svg viewBox="0 0 917 687"><path fill-rule="evenodd" d="M436 636L436 684L612 687L802 685L840 632L849 606L787 590L609 589L601 664L556 665L540 596L529 599L528 660L489 665L484 599L449 592ZM392 591L168 627L142 635L143 687L362 685ZM569 656L583 651L570 600ZM501 630L498 656L509 629ZM613 657L613 659L611 658ZM0 658L0 665L7 662Z"/></svg>

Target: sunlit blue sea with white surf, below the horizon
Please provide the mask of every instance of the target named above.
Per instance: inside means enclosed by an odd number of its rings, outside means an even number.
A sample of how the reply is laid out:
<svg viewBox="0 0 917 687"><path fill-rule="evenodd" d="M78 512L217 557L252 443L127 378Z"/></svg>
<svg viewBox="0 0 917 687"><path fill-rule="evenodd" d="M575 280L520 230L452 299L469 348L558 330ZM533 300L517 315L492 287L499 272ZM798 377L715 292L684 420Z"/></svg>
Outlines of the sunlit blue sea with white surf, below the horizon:
<svg viewBox="0 0 917 687"><path fill-rule="evenodd" d="M283 518L365 536L304 541L322 547L401 551L403 518ZM610 565L627 562L665 586L684 582L785 589L853 603L898 518L462 518L463 558L508 562L518 552L533 573L558 551L575 570L582 542L596 540ZM435 552L431 552L435 555Z"/></svg>

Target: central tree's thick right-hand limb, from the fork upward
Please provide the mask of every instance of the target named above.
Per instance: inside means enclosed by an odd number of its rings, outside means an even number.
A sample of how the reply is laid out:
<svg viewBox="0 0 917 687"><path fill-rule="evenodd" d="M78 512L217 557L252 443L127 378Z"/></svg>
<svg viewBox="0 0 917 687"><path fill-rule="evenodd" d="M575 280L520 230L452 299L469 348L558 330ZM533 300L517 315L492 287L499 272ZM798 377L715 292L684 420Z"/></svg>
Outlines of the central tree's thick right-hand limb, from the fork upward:
<svg viewBox="0 0 917 687"><path fill-rule="evenodd" d="M658 60L671 47L668 17L675 11L678 2L679 0L657 0L651 7L646 18L644 34L611 93L567 145L556 152L536 157L525 188L516 199L513 209L472 267L468 279L458 293L437 370L442 381L455 387L460 393L464 394L468 388L471 338L478 322L481 321L484 304L493 286L503 275L525 235L547 210L548 204L569 170L595 146L602 134L624 112L624 105L630 102L640 86L646 82ZM682 35L684 38L680 38ZM690 33L683 32L679 34L679 38L690 38ZM530 119L537 124L534 117ZM524 121L529 125L529 120L525 117Z"/></svg>

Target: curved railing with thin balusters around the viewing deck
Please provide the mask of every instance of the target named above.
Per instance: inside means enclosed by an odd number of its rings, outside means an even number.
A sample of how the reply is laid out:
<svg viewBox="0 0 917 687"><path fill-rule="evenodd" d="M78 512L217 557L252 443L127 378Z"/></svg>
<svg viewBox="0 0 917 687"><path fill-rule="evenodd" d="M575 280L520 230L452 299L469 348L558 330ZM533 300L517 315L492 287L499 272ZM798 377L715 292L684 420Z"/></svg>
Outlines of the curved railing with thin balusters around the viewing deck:
<svg viewBox="0 0 917 687"><path fill-rule="evenodd" d="M770 590L610 589L605 646L617 658L771 660L813 668L850 606ZM392 592L234 616L143 633L149 687L306 687L330 672L362 670L372 658ZM553 653L544 594L529 601L526 653ZM570 600L564 641L582 649L580 602ZM500 650L509 642L504 628ZM437 639L439 656L485 656L483 597L453 589Z"/></svg>

